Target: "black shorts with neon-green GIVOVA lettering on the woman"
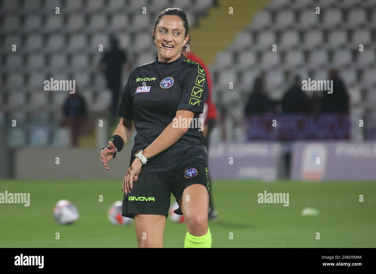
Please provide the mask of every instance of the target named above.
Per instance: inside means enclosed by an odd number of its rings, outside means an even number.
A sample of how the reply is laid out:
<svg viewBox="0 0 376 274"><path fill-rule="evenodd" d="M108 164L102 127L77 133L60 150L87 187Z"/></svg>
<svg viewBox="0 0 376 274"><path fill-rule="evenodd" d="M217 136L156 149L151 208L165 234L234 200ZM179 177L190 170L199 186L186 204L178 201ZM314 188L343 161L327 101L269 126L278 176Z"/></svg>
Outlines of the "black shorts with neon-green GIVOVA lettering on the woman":
<svg viewBox="0 0 376 274"><path fill-rule="evenodd" d="M122 215L135 218L137 214L156 214L168 216L171 192L179 200L184 189L200 184L209 191L208 167L202 161L192 162L170 171L141 173L133 182L130 193L123 198ZM180 207L174 211L183 215Z"/></svg>

